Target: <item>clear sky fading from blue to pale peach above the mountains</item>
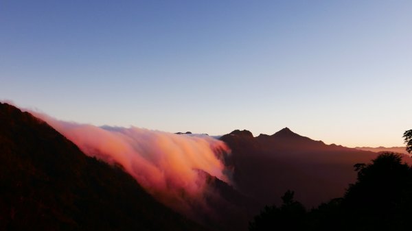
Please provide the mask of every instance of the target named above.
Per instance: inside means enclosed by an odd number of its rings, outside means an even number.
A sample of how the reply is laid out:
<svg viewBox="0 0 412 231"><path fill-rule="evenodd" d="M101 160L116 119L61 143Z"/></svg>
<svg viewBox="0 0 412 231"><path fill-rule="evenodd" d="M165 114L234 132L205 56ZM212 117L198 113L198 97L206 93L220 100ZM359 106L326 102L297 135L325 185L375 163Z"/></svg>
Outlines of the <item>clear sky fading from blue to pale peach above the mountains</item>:
<svg viewBox="0 0 412 231"><path fill-rule="evenodd" d="M0 99L67 121L395 146L411 88L412 1L0 1Z"/></svg>

